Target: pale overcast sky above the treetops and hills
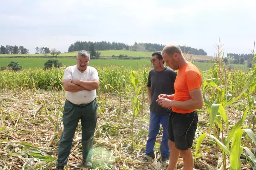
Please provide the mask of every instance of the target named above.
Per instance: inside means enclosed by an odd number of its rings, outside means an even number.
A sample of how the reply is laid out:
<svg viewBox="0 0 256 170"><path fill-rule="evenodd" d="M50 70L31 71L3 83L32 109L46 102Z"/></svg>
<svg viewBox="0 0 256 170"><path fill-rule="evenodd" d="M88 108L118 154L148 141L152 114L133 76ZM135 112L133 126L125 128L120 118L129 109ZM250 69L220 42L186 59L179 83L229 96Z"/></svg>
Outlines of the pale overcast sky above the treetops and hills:
<svg viewBox="0 0 256 170"><path fill-rule="evenodd" d="M250 53L256 0L0 0L0 45L68 51L80 41L187 45Z"/></svg>

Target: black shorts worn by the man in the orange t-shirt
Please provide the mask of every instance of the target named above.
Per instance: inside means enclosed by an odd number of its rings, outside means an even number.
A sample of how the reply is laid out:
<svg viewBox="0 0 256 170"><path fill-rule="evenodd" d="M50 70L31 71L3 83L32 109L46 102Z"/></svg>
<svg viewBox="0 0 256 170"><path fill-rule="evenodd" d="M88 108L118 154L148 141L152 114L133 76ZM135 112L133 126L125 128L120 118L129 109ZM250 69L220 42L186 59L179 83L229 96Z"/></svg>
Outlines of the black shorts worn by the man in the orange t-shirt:
<svg viewBox="0 0 256 170"><path fill-rule="evenodd" d="M168 124L169 140L175 143L178 150L185 151L192 147L197 122L197 111L186 114L171 111Z"/></svg>

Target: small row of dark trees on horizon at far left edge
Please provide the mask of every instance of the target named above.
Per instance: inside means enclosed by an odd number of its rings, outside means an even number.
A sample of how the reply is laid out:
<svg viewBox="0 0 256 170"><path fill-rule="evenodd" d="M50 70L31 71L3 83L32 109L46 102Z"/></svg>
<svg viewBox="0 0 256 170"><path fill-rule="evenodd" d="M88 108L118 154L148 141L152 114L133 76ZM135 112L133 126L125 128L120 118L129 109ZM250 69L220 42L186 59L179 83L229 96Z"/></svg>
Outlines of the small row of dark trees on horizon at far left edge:
<svg viewBox="0 0 256 170"><path fill-rule="evenodd" d="M29 52L28 49L23 46L18 47L17 45L6 45L4 47L1 45L0 54L29 54Z"/></svg>

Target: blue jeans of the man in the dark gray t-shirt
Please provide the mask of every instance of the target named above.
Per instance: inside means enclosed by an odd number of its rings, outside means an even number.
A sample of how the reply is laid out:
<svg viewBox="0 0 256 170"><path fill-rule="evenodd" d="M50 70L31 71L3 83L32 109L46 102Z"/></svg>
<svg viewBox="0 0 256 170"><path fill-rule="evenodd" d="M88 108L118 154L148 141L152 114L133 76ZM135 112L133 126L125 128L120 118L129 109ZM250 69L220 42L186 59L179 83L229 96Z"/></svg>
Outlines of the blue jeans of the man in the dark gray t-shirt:
<svg viewBox="0 0 256 170"><path fill-rule="evenodd" d="M148 140L146 145L145 154L153 157L154 155L154 146L156 142L156 136L160 130L160 124L163 127L163 137L160 144L160 152L162 157L169 157L170 151L168 146L168 120L169 115L154 114L150 112L149 118L149 131L148 131Z"/></svg>

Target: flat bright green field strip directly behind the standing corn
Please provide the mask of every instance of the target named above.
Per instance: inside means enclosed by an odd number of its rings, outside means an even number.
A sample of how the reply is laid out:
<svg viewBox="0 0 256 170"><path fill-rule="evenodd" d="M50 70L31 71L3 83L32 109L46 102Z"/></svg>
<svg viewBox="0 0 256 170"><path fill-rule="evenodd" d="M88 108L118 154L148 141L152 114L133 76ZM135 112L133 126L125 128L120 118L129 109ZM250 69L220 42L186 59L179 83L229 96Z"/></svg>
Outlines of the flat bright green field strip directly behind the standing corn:
<svg viewBox="0 0 256 170"><path fill-rule="evenodd" d="M52 58L54 59L54 58ZM56 58L57 59L57 58ZM0 67L6 67L11 61L17 61L20 63L23 69L26 68L43 68L44 63L49 60L49 58L0 58ZM58 60L64 63L66 66L72 66L76 64L75 58L58 58ZM150 60L114 60L114 59L99 59L99 60L91 60L89 63L90 66L107 66L107 65L117 65L124 67L132 67L132 69L136 69L137 65L140 66L148 66L151 67ZM202 71L208 70L211 66L209 64L207 66L207 62L195 62L195 65L200 68ZM231 68L234 69L247 70L246 64L238 65L232 64Z"/></svg>

